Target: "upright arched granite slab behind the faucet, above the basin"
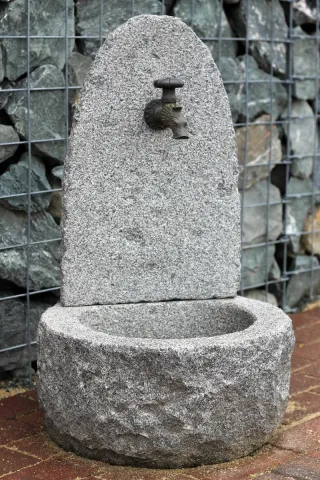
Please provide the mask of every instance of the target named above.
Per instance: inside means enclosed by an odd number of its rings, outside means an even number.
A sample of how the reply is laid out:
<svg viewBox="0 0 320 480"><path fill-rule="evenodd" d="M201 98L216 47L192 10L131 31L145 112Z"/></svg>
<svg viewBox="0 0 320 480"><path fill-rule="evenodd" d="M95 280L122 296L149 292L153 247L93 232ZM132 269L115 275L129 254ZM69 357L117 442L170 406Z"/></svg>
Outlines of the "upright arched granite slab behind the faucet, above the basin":
<svg viewBox="0 0 320 480"><path fill-rule="evenodd" d="M144 109L176 77L190 138ZM236 295L240 209L226 92L207 47L177 18L117 28L82 90L64 177L62 304Z"/></svg>

